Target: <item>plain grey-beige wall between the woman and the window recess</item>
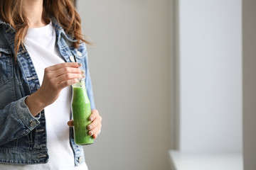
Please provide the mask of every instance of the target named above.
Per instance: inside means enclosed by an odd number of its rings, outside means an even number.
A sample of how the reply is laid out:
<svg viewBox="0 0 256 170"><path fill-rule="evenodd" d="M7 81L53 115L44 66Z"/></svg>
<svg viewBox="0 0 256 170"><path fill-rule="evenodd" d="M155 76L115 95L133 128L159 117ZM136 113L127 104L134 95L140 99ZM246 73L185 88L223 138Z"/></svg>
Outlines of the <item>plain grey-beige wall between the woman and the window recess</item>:
<svg viewBox="0 0 256 170"><path fill-rule="evenodd" d="M168 169L169 0L78 1L102 133L91 170Z"/></svg>

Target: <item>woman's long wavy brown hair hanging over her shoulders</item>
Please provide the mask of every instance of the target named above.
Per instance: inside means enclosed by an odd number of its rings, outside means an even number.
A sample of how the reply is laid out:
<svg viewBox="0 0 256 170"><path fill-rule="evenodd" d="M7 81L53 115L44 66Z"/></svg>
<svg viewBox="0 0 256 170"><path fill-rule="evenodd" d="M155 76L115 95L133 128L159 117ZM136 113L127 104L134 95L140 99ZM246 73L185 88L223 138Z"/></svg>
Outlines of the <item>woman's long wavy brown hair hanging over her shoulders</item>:
<svg viewBox="0 0 256 170"><path fill-rule="evenodd" d="M85 40L82 35L81 18L75 10L74 0L43 0L43 21L50 23L50 18L54 17L65 33L72 36L77 42L73 42L73 47L78 47L81 42L92 44ZM0 18L9 23L15 35L15 60L20 46L23 47L23 40L28 31L28 19L22 10L23 0L0 0Z"/></svg>

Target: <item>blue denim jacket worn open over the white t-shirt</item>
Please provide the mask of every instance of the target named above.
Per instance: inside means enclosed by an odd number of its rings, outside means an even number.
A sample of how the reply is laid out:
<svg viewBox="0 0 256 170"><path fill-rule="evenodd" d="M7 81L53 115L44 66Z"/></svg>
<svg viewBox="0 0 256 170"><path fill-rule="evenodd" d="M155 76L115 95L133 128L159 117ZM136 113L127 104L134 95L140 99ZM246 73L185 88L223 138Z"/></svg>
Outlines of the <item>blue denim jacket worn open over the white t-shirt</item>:
<svg viewBox="0 0 256 170"><path fill-rule="evenodd" d="M95 109L92 84L88 70L85 43L78 49L72 47L73 38L53 19L56 45L65 62L82 63L85 86L91 108ZM44 111L35 117L24 103L26 96L40 88L36 70L28 52L21 47L14 61L15 30L0 21L0 164L42 164L48 162L46 118ZM81 146L75 145L73 128L70 128L70 147L74 152L75 166L84 162Z"/></svg>

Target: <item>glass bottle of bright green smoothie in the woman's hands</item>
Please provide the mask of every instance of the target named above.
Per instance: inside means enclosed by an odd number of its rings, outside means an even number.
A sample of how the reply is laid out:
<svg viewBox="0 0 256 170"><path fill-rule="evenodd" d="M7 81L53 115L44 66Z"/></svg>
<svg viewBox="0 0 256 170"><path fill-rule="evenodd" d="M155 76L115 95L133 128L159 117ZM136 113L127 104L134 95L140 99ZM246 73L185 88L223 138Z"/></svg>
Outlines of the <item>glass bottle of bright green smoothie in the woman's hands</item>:
<svg viewBox="0 0 256 170"><path fill-rule="evenodd" d="M90 101L85 89L85 81L73 84L72 113L74 123L75 144L88 145L93 143L87 126L91 114Z"/></svg>

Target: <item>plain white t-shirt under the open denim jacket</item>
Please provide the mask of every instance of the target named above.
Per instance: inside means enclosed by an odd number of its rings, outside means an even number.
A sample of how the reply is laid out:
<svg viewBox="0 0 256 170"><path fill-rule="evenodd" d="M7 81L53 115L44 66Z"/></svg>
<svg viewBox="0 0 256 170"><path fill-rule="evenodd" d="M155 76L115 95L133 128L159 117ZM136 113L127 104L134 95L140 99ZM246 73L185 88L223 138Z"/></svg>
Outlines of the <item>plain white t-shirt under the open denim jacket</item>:
<svg viewBox="0 0 256 170"><path fill-rule="evenodd" d="M24 44L30 55L40 84L43 81L44 69L64 62L55 46L56 33L51 24L41 28L29 28ZM66 87L58 99L44 108L46 115L47 147L49 161L47 164L9 165L1 164L1 169L26 170L87 170L85 163L75 166L73 150L70 146L69 127L71 113L72 89Z"/></svg>

